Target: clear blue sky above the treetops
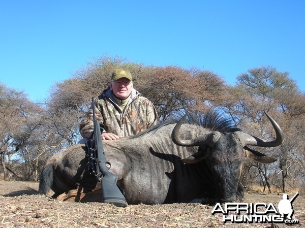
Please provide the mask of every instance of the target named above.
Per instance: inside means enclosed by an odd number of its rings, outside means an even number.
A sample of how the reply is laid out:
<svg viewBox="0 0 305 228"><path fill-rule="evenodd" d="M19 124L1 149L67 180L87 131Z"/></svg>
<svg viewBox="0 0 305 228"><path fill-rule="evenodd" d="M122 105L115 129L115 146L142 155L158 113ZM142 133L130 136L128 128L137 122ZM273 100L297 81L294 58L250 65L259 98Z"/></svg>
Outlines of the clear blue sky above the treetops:
<svg viewBox="0 0 305 228"><path fill-rule="evenodd" d="M101 55L210 70L289 72L305 91L305 1L1 1L0 81L32 101Z"/></svg>

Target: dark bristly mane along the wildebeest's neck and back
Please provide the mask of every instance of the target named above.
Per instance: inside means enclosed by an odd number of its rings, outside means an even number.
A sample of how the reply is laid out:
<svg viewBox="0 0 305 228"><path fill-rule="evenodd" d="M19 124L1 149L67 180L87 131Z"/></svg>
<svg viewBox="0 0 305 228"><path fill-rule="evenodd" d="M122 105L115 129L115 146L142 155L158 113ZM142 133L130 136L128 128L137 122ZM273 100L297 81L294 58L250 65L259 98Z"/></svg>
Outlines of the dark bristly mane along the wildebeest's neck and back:
<svg viewBox="0 0 305 228"><path fill-rule="evenodd" d="M149 132L157 131L157 129L165 125L177 123L181 119L181 117L182 117L181 115L176 115L174 117L171 117L169 120L166 120L165 122L159 123L153 127L146 129L144 132L131 136L130 139L138 138ZM234 125L232 119L225 117L224 114L222 114L220 111L217 111L215 109L208 109L204 113L198 111L197 112L189 111L185 123L208 128L210 129L210 131L218 131L218 132L241 131L238 127Z"/></svg>

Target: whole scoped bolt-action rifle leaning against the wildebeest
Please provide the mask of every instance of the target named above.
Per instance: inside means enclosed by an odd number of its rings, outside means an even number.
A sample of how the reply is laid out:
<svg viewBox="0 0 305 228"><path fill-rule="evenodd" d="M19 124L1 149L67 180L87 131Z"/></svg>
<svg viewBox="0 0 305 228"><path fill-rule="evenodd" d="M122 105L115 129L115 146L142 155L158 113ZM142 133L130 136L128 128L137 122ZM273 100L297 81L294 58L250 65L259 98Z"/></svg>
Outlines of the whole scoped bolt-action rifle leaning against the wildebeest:
<svg viewBox="0 0 305 228"><path fill-rule="evenodd" d="M95 101L92 97L94 133L92 139L86 142L88 148L88 171L97 177L97 180L102 184L102 200L104 203L114 204L119 207L128 206L123 193L116 185L117 175L109 172L106 164L105 151L101 138L100 123L95 117ZM100 178L100 171L103 177Z"/></svg>

